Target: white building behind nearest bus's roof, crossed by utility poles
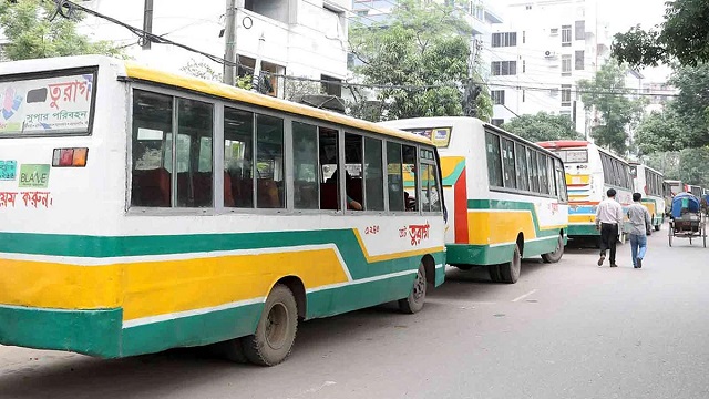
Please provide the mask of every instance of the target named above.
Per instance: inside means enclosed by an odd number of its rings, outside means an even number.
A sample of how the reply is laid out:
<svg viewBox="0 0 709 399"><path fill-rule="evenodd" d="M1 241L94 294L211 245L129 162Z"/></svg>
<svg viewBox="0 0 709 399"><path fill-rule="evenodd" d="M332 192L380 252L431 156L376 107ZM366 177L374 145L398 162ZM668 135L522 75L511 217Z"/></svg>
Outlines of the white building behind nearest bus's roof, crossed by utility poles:
<svg viewBox="0 0 709 399"><path fill-rule="evenodd" d="M251 73L257 59L271 73L271 94L284 95L282 75L340 81L347 75L348 12L351 0L237 0L236 51L239 74ZM81 3L103 14L143 27L145 0L90 0ZM240 6L240 7L239 7ZM225 54L225 1L154 0L154 34L163 35L219 58ZM179 70L191 60L206 63L215 72L223 66L187 50L152 44L137 45L137 37L125 28L99 18L86 18L80 30L95 39L117 40L141 62ZM296 80L287 80L297 82ZM337 94L339 84L326 85Z"/></svg>

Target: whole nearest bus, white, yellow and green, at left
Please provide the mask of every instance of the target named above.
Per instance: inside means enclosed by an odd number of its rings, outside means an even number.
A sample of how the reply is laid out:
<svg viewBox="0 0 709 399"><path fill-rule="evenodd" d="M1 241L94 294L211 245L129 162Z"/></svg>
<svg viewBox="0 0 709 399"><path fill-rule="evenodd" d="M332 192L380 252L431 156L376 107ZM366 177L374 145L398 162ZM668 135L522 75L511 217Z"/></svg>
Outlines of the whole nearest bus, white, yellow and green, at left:
<svg viewBox="0 0 709 399"><path fill-rule="evenodd" d="M429 140L100 57L3 63L0 96L0 344L275 365L298 319L443 283Z"/></svg>

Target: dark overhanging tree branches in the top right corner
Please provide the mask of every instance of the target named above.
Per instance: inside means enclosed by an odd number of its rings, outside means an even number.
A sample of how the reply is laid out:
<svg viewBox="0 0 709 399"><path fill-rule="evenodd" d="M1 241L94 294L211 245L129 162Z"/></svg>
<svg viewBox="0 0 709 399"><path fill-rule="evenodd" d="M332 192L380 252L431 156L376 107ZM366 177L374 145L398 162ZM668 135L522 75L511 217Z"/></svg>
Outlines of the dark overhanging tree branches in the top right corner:
<svg viewBox="0 0 709 399"><path fill-rule="evenodd" d="M661 25L647 31L636 27L614 37L615 58L634 68L672 60L682 65L709 61L709 1L672 0L665 4Z"/></svg>

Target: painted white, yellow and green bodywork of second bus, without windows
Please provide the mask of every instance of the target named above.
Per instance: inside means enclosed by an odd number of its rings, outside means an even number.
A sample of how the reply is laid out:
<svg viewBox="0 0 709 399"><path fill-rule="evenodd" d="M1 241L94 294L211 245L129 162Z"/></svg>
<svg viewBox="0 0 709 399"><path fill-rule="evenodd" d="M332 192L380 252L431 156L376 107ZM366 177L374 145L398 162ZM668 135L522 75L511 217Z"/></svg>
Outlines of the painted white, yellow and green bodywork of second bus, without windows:
<svg viewBox="0 0 709 399"><path fill-rule="evenodd" d="M448 147L439 149L449 211L446 263L487 266L510 262L520 235L524 257L554 252L559 236L566 243L566 204L551 196L491 190L482 121L420 117L382 124L408 131L451 129Z"/></svg>

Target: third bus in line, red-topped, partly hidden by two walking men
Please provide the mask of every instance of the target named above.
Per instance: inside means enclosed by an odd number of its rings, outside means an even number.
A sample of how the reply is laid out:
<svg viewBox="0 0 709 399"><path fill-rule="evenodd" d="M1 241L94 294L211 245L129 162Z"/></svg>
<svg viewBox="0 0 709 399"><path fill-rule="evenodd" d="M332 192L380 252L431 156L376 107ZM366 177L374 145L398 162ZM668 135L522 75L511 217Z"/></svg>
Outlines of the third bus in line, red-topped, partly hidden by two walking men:
<svg viewBox="0 0 709 399"><path fill-rule="evenodd" d="M596 229L596 211L606 198L608 188L615 188L616 200L627 208L633 203L630 166L621 157L586 141L561 140L537 143L561 156L568 186L568 236L572 239L600 236ZM627 222L627 221L626 221ZM620 241L625 242L627 226L623 226Z"/></svg>

